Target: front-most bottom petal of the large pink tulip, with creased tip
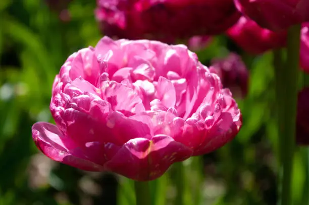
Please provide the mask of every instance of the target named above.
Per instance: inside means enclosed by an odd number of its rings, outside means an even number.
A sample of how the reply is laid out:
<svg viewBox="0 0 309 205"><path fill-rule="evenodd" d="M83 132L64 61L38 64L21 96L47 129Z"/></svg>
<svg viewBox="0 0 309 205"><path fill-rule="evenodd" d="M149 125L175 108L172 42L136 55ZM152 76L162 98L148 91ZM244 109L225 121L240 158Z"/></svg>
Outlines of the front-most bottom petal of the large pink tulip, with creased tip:
<svg viewBox="0 0 309 205"><path fill-rule="evenodd" d="M191 154L192 150L167 135L156 135L151 140L137 138L120 148L105 168L134 180L147 181L160 177L171 164Z"/></svg>

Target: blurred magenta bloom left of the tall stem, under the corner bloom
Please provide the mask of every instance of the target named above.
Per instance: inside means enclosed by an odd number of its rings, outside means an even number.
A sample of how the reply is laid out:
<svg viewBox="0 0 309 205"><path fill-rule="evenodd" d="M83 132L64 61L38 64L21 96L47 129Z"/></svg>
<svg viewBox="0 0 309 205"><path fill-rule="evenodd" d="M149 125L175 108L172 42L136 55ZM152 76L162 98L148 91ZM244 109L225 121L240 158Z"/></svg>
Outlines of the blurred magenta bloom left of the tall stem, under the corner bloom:
<svg viewBox="0 0 309 205"><path fill-rule="evenodd" d="M261 54L285 46L287 32L273 32L260 27L249 18L241 17L227 30L227 35L246 52Z"/></svg>

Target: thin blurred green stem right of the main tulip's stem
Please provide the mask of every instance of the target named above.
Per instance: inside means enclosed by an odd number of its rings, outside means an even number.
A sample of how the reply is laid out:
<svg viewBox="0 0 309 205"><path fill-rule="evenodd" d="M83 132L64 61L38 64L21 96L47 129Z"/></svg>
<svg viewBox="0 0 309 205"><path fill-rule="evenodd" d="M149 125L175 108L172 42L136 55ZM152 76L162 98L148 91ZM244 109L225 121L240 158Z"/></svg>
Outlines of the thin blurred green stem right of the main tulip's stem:
<svg viewBox="0 0 309 205"><path fill-rule="evenodd" d="M175 178L176 178L176 199L175 205L183 205L183 195L184 195L184 167L182 162L177 162L175 166Z"/></svg>

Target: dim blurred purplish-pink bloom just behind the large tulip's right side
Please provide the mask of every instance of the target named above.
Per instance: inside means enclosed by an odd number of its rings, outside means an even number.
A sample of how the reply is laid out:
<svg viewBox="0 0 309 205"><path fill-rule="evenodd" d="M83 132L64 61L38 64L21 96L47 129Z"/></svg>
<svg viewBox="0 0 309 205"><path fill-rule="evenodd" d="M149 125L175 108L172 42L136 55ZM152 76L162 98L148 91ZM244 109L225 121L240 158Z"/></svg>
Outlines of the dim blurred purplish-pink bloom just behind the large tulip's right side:
<svg viewBox="0 0 309 205"><path fill-rule="evenodd" d="M249 72L239 55L230 53L225 58L214 59L210 71L218 74L223 87L229 88L233 96L239 98L246 97Z"/></svg>

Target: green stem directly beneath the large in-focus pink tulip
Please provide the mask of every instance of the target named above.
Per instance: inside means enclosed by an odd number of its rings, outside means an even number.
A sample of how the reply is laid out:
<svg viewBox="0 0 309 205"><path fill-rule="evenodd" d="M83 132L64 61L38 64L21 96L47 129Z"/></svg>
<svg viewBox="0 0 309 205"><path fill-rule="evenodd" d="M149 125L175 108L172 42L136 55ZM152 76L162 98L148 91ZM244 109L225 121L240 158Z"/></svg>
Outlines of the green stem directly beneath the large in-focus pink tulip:
<svg viewBox="0 0 309 205"><path fill-rule="evenodd" d="M150 191L148 182L134 181L136 205L150 205Z"/></svg>

